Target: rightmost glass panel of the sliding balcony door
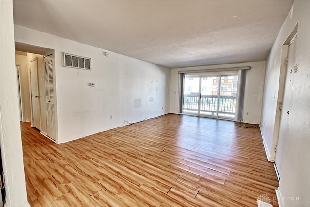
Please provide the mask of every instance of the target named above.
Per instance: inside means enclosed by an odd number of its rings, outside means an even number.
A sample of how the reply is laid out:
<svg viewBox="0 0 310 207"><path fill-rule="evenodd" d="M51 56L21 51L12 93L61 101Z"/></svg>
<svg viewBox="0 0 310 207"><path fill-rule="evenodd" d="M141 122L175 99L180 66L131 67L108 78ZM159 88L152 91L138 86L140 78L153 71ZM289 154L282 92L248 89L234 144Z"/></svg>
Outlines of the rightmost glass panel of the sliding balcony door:
<svg viewBox="0 0 310 207"><path fill-rule="evenodd" d="M218 116L234 119L237 105L238 75L221 76Z"/></svg>

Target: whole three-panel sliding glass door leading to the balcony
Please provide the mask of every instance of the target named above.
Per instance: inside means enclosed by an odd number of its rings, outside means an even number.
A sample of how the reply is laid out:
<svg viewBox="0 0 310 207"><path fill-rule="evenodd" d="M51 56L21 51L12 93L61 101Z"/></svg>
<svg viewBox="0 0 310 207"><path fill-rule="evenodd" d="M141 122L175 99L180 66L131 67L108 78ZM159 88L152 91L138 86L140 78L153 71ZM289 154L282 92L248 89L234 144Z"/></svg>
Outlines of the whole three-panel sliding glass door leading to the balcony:
<svg viewBox="0 0 310 207"><path fill-rule="evenodd" d="M238 74L218 76L185 75L183 113L235 119Z"/></svg>

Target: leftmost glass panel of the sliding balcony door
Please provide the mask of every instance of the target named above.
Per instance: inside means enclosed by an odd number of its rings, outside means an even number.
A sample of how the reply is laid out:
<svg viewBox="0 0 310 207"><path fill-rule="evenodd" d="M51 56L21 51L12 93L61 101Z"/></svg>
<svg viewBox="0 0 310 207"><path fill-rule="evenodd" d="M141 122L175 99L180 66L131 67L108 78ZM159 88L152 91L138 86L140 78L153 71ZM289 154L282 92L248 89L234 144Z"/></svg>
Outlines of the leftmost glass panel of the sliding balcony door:
<svg viewBox="0 0 310 207"><path fill-rule="evenodd" d="M183 113L199 114L200 77L184 77Z"/></svg>

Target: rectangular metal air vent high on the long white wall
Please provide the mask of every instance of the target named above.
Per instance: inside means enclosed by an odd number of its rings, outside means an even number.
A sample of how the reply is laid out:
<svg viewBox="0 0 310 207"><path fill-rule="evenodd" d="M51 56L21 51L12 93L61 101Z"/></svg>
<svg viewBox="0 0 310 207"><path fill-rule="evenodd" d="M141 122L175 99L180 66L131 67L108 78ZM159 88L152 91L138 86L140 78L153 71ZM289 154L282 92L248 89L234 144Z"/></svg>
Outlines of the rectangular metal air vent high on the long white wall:
<svg viewBox="0 0 310 207"><path fill-rule="evenodd" d="M91 59L68 53L63 53L63 61L65 67L73 67L78 69L91 70Z"/></svg>

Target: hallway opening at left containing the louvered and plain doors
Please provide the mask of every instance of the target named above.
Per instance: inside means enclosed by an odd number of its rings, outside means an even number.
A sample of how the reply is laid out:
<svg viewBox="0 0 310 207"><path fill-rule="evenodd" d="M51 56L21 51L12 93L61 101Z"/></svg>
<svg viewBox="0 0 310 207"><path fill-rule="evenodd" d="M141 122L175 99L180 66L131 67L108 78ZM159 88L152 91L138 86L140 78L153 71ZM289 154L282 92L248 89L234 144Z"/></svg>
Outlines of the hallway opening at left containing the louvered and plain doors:
<svg viewBox="0 0 310 207"><path fill-rule="evenodd" d="M57 141L54 50L15 43L21 74L21 117L53 142Z"/></svg>

